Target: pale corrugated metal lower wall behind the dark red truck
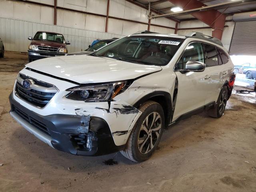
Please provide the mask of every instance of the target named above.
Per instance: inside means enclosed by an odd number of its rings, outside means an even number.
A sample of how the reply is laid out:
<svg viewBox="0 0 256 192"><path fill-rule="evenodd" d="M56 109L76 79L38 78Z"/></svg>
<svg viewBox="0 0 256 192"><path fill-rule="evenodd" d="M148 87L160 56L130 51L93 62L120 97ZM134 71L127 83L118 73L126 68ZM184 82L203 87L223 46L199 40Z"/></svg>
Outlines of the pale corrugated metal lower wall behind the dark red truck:
<svg viewBox="0 0 256 192"><path fill-rule="evenodd" d="M122 35L82 30L64 26L41 24L10 18L0 18L0 37L4 42L6 51L27 52L30 40L28 36L34 37L37 31L57 32L64 35L65 40L71 42L68 52L81 51L95 39L121 38Z"/></svg>

